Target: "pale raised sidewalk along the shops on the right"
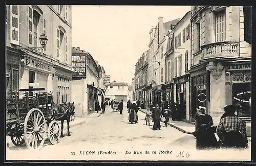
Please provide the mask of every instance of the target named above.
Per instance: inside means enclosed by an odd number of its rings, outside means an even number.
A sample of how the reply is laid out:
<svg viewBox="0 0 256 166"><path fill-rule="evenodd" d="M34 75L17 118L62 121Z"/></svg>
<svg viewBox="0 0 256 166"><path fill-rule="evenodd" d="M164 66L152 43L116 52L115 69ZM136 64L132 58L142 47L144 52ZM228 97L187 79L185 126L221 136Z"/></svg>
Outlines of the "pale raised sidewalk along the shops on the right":
<svg viewBox="0 0 256 166"><path fill-rule="evenodd" d="M139 110L143 113L146 113L146 109L139 109ZM185 123L183 121L173 121L173 120L169 119L168 125L176 128L177 130L179 130L183 133L191 133L191 132L195 131L195 125ZM218 136L217 134L215 134L215 135ZM251 137L247 137L247 138L248 138L248 140L251 141ZM218 137L218 139L219 139L219 137Z"/></svg>

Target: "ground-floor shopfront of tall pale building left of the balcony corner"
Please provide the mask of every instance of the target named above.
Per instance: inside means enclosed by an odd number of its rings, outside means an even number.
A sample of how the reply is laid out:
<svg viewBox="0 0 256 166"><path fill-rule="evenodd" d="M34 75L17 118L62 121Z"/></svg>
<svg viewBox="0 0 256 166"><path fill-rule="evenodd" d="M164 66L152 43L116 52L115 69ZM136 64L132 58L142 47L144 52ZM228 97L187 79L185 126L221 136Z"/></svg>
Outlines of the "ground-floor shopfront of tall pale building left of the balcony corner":
<svg viewBox="0 0 256 166"><path fill-rule="evenodd" d="M184 121L189 121L189 73L174 78L174 93L176 102L180 107L179 111Z"/></svg>

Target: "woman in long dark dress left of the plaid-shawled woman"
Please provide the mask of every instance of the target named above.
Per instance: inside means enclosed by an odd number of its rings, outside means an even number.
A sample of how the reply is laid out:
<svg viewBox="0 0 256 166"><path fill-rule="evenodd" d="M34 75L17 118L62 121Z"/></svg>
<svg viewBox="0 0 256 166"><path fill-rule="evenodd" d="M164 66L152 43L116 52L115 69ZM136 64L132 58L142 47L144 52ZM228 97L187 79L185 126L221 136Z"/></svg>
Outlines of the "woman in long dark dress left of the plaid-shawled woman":
<svg viewBox="0 0 256 166"><path fill-rule="evenodd" d="M197 138L197 149L219 148L218 141L215 137L216 127L211 127L214 123L212 117L205 113L206 108L200 107L201 114L197 118L198 130L193 132Z"/></svg>

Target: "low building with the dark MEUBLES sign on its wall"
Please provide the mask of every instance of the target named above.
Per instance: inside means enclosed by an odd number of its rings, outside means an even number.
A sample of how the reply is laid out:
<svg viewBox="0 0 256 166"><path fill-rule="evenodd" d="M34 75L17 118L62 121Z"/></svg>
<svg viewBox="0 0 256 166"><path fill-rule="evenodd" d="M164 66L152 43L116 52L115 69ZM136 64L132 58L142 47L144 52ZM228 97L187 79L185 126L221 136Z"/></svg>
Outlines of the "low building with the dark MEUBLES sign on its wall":
<svg viewBox="0 0 256 166"><path fill-rule="evenodd" d="M72 100L75 101L76 115L87 116L95 110L95 102L104 101L104 68L90 53L72 48Z"/></svg>

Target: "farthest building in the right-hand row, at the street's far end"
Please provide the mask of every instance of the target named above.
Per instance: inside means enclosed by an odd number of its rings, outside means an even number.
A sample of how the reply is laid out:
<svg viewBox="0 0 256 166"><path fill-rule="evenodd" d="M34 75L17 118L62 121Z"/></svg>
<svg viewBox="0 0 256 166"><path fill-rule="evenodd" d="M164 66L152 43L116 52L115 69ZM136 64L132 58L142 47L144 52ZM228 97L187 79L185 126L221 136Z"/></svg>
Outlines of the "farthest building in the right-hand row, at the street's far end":
<svg viewBox="0 0 256 166"><path fill-rule="evenodd" d="M149 104L150 88L148 84L148 50L145 51L135 65L135 99Z"/></svg>

